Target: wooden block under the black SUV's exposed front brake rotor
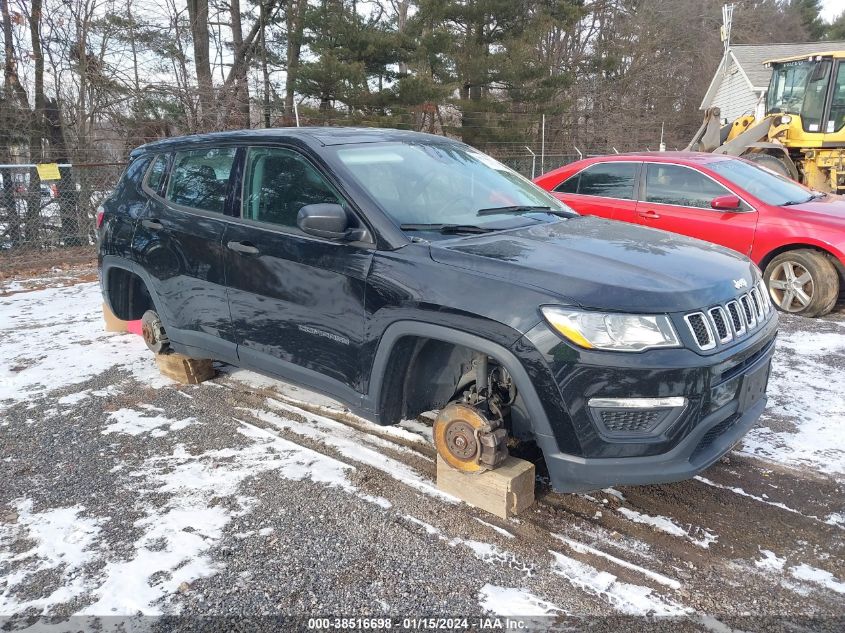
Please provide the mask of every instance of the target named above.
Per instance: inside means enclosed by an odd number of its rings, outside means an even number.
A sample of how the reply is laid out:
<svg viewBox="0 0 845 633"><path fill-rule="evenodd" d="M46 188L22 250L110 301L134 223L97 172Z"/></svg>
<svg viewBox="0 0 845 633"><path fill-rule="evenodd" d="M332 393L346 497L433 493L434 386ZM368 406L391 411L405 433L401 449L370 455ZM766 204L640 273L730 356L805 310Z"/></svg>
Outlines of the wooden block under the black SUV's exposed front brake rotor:
<svg viewBox="0 0 845 633"><path fill-rule="evenodd" d="M534 464L508 457L495 470L463 473L438 455L437 487L468 504L507 519L534 503Z"/></svg>

